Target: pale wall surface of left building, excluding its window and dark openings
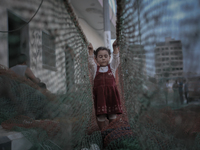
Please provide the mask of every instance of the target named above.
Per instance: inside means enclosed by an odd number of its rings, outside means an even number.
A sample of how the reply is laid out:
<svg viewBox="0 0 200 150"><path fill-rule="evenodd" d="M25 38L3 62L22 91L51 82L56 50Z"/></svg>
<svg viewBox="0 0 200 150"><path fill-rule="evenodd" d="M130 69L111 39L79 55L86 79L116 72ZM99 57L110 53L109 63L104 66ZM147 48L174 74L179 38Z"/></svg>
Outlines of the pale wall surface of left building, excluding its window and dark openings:
<svg viewBox="0 0 200 150"><path fill-rule="evenodd" d="M17 16L28 21L35 14L40 0L6 0L1 1L0 5L0 30L8 30L7 9L11 10ZM65 47L73 47L76 57L80 51L80 45L75 44L78 41L76 28L64 7L62 1L44 1L38 13L29 26L29 57L30 68L36 77L46 83L48 90L53 93L66 92L66 64ZM56 53L56 71L43 67L42 64L42 31L55 36ZM8 64L8 34L0 33L0 64ZM51 61L51 60L50 60ZM75 60L77 65L77 59ZM75 68L75 66L74 66ZM80 73L80 72L79 72ZM78 77L77 77L78 78Z"/></svg>

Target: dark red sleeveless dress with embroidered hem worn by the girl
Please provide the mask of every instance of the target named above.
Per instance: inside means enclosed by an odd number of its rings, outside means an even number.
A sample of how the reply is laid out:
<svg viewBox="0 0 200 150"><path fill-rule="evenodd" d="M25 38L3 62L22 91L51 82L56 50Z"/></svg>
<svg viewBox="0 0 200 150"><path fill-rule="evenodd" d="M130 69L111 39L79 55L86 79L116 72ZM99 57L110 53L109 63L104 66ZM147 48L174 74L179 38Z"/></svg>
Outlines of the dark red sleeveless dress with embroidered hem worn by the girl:
<svg viewBox="0 0 200 150"><path fill-rule="evenodd" d="M93 87L96 115L121 114L120 96L110 65L107 72L99 72L99 69L97 66Z"/></svg>

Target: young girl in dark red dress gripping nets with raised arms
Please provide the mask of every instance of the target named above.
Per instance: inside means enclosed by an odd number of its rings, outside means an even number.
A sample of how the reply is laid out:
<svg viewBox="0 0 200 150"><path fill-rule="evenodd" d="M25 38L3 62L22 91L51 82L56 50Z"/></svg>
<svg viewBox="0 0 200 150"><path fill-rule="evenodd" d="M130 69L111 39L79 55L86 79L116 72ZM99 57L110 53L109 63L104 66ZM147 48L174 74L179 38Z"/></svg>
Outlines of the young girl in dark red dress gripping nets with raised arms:
<svg viewBox="0 0 200 150"><path fill-rule="evenodd" d="M94 107L97 116L97 123L100 130L105 126L106 117L109 123L116 119L117 114L122 113L119 92L115 82L115 71L119 66L119 49L116 41L113 43L113 59L109 64L111 52L106 47L99 47L94 51L90 43L89 50L89 68L94 80L93 96Z"/></svg>

